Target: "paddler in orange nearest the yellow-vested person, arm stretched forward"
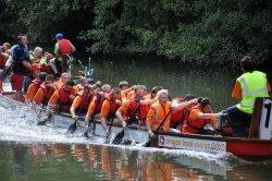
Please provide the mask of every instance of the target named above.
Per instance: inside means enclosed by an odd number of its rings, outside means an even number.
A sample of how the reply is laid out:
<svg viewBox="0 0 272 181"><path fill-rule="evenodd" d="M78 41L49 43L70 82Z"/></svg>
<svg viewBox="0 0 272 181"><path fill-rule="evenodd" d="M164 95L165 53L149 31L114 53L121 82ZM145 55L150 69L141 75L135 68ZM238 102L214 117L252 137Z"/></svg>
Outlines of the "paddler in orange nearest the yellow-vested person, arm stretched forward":
<svg viewBox="0 0 272 181"><path fill-rule="evenodd" d="M213 135L214 130L218 128L217 119L220 116L222 116L222 112L212 113L210 99L202 98L196 107L189 110L182 134ZM213 130L206 129L205 126L208 124L210 124Z"/></svg>

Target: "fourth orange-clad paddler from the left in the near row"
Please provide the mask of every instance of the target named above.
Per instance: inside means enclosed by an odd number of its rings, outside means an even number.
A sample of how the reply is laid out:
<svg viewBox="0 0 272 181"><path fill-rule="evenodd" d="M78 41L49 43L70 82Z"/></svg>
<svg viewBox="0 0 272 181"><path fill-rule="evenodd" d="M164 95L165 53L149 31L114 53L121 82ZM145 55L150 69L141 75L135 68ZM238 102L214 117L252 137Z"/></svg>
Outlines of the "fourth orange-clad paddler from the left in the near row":
<svg viewBox="0 0 272 181"><path fill-rule="evenodd" d="M78 116L85 117L94 95L94 88L89 84L85 84L83 90L78 93L70 108L70 113L74 121L78 121Z"/></svg>

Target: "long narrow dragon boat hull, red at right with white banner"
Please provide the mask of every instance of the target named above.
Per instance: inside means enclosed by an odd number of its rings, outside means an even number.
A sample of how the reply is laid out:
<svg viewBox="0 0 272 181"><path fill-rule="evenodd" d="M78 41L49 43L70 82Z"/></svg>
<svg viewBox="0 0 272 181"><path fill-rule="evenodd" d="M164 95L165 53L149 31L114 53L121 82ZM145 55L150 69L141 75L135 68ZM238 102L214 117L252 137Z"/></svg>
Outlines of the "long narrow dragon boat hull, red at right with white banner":
<svg viewBox="0 0 272 181"><path fill-rule="evenodd" d="M5 108L22 107L23 104L0 96L0 106ZM32 110L33 111L33 110ZM34 111L35 112L35 111ZM53 117L53 125L60 128L69 128L73 123L70 114L59 113ZM83 132L84 120L78 122L78 130ZM112 135L115 135L122 128L112 126ZM100 121L96 121L95 135L104 136L104 131ZM134 141L136 143L146 143L149 141L149 134L146 129L131 126L125 131L124 142ZM239 158L252 161L272 159L272 141L258 138L235 138L235 137L214 137L206 135L186 135L176 133L160 132L154 138L152 146L174 149L193 149L209 153L231 153Z"/></svg>

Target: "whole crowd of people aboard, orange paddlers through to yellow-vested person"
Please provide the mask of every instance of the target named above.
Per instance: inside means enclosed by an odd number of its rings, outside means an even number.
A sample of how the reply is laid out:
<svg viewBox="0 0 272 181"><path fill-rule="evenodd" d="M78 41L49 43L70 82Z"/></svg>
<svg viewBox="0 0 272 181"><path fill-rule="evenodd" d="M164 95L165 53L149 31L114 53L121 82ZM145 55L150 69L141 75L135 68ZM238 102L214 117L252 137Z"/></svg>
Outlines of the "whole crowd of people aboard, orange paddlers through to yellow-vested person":
<svg viewBox="0 0 272 181"><path fill-rule="evenodd" d="M29 52L26 35L18 36L18 45L11 47L5 43L1 47L0 90L2 81L10 76L15 100L32 102L36 108L47 106L42 121L52 119L55 112L69 112L75 122L84 117L88 130L89 122L99 118L106 135L110 134L109 121L123 128L128 122L145 126L150 136L162 122L164 132L213 135L218 130L223 112L213 113L209 98L185 95L171 99L169 90L161 86L149 93L145 85L121 81L116 87L111 87L100 81L88 82L84 75L75 85L67 72L67 58L75 47L62 34L57 34L55 39L55 57L49 52L44 55L40 47ZM265 74L255 70L250 57L245 57L240 65L244 74L237 79L233 90L239 104L226 109L234 136L247 134L255 98L268 97L271 92Z"/></svg>

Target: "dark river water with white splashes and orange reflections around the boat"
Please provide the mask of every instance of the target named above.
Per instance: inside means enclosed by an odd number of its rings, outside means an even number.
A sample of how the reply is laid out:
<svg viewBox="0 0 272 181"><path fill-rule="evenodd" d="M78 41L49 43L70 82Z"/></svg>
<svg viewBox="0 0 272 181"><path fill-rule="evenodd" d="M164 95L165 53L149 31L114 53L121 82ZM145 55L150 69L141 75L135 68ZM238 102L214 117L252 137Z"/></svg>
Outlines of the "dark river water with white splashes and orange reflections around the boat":
<svg viewBox="0 0 272 181"><path fill-rule="evenodd" d="M235 104L231 92L239 68L119 58L91 61L95 77L168 88L171 97L209 97L214 111ZM77 65L78 67L78 65ZM78 69L78 68L74 68ZM25 110L0 107L0 181L74 180L271 180L272 162L248 162L230 154L101 145L38 126Z"/></svg>

